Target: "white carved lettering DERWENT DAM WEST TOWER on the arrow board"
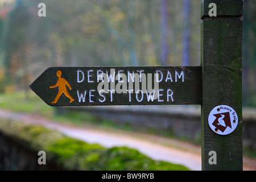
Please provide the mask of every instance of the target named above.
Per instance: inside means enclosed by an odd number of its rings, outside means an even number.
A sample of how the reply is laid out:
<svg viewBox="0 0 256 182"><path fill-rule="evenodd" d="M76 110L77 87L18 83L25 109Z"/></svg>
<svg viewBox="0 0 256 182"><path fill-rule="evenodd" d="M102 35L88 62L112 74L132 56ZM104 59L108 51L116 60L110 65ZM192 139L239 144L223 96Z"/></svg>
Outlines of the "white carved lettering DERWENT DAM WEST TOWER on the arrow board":
<svg viewBox="0 0 256 182"><path fill-rule="evenodd" d="M174 102L175 93L171 89L173 82L184 82L184 71L156 70L145 73L144 69L124 71L123 69L102 71L101 69L77 70L77 84L96 84L97 89L79 90L77 98L84 102L113 102L114 94L127 94L129 102ZM159 84L170 85L170 88L159 88ZM170 84L169 84L170 83ZM97 93L98 92L98 93Z"/></svg>

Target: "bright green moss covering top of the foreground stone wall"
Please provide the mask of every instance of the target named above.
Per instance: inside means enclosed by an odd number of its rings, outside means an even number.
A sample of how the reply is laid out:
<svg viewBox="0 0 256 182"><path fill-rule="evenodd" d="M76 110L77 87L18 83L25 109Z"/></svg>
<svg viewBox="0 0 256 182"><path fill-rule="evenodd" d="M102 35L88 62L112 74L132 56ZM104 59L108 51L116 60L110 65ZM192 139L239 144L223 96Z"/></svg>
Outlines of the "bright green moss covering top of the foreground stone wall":
<svg viewBox="0 0 256 182"><path fill-rule="evenodd" d="M38 159L45 151L47 165L64 170L188 170L184 166L155 161L127 147L105 148L67 137L58 131L1 119L0 133ZM37 163L37 161L35 161ZM46 166L47 166L46 165ZM48 167L52 168L52 167Z"/></svg>

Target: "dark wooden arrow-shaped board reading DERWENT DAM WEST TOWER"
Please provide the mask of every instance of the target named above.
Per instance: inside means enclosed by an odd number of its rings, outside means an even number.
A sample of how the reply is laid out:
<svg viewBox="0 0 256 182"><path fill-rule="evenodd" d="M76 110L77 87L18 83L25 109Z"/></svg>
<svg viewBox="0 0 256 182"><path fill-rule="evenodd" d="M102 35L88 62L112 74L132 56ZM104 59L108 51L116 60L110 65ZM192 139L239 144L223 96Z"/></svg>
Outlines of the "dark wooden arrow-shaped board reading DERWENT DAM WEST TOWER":
<svg viewBox="0 0 256 182"><path fill-rule="evenodd" d="M30 85L51 106L201 104L201 67L51 67Z"/></svg>

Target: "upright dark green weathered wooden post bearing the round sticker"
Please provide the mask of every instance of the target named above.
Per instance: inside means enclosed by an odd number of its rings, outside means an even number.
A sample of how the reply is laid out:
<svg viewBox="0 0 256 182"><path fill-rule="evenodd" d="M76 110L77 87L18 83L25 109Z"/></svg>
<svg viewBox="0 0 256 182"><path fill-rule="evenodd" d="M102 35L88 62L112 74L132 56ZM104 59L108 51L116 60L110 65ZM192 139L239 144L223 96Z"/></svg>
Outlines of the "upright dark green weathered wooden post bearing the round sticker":
<svg viewBox="0 0 256 182"><path fill-rule="evenodd" d="M215 3L217 16L209 16L210 3ZM212 11L211 11L212 12ZM242 170L242 0L204 0L201 3L201 64L203 96L201 107L202 169ZM232 108L230 113L220 105ZM210 129L208 117L216 108L231 115L236 129L226 135L217 134L220 123ZM238 119L232 115L236 111ZM219 115L220 115L219 114ZM213 114L212 114L213 115ZM214 118L214 117L213 117ZM233 119L234 118L234 119ZM213 127L213 126L212 126ZM232 126L234 129L234 126ZM213 127L214 128L214 127ZM216 163L212 155L216 152Z"/></svg>

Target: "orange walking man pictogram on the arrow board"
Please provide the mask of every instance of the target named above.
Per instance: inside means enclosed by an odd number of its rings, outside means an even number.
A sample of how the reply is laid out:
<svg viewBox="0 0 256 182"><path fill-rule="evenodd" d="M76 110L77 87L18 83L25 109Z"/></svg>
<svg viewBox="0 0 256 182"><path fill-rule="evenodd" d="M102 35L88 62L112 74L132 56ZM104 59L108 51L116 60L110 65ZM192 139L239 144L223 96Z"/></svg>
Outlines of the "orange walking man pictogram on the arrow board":
<svg viewBox="0 0 256 182"><path fill-rule="evenodd" d="M50 89L55 88L56 86L59 86L59 92L57 93L55 100L52 101L52 104L56 104L56 102L59 100L61 94L63 94L63 93L65 94L65 96L67 96L70 99L69 103L74 101L73 97L71 97L71 95L68 93L66 85L68 85L69 90L72 90L72 88L69 85L69 82L65 78L61 77L61 74L62 74L62 72L60 70L58 70L56 72L56 75L59 77L59 79L55 85L50 86Z"/></svg>

